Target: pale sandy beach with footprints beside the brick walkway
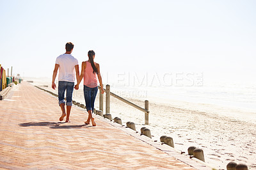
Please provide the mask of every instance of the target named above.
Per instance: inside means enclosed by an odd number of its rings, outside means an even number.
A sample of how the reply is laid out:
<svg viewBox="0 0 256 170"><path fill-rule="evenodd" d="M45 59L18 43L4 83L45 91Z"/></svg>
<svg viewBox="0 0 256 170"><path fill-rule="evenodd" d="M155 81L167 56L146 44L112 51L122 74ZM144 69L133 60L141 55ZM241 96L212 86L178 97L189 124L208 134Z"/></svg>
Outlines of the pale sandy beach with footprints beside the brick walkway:
<svg viewBox="0 0 256 170"><path fill-rule="evenodd" d="M56 90L51 89L49 84L47 85L48 87L40 87L57 93ZM144 107L143 100L127 99ZM73 100L84 104L82 89L74 91ZM99 109L99 95L95 101L95 109ZM173 102L151 102L149 100L149 110L149 125L144 125L143 112L111 97L112 118L121 118L123 125L127 121L134 122L137 131L140 131L141 127L149 128L152 140L158 143L161 135L168 135L173 137L177 150L188 153L189 146L196 146L204 150L205 162L212 167L225 169L228 162L234 161L237 164L246 164L249 168L256 169L255 123L243 121L239 116L242 114L241 111L177 100L173 100ZM218 111L227 112L227 114L218 114ZM237 118L230 117L230 113L237 113ZM76 113L71 113L71 119L72 114ZM253 115L255 114L252 112ZM81 119L85 120L86 118Z"/></svg>

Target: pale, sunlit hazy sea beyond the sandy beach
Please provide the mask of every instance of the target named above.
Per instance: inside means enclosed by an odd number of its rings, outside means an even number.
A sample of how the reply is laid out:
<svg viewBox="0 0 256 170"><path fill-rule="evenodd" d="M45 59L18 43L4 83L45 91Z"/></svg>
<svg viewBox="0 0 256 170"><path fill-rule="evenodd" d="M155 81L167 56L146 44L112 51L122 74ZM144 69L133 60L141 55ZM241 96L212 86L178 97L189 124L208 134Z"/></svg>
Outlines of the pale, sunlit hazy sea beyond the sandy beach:
<svg viewBox="0 0 256 170"><path fill-rule="evenodd" d="M175 74L179 74L179 77ZM24 77L24 79L35 80L38 85L51 85L51 77ZM256 114L256 85L253 79L230 81L213 77L213 81L209 81L211 78L205 77L202 72L106 73L102 75L102 79L104 87L109 84L111 92L124 98L164 104L173 100L193 104L212 104ZM80 86L83 88L83 82Z"/></svg>

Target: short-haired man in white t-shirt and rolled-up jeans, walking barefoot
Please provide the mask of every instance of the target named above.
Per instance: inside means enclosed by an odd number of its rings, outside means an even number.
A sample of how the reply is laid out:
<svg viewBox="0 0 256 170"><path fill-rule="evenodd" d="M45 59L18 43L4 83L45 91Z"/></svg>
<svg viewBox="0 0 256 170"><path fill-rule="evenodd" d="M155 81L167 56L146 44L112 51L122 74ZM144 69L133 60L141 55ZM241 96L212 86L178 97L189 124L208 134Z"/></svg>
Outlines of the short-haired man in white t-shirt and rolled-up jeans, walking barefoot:
<svg viewBox="0 0 256 170"><path fill-rule="evenodd" d="M69 116L72 107L72 94L74 90L74 82L75 82L75 73L76 79L79 79L79 65L76 58L71 55L71 52L74 48L73 43L66 43L66 52L65 54L61 54L56 59L55 68L52 74L52 89L56 88L55 79L58 73L58 69L60 68L59 77L58 77L58 98L59 98L59 105L62 111L60 121L66 116L65 112L65 100L64 100L64 93L66 91L67 94L67 118L65 122L70 122ZM76 72L75 72L76 70Z"/></svg>

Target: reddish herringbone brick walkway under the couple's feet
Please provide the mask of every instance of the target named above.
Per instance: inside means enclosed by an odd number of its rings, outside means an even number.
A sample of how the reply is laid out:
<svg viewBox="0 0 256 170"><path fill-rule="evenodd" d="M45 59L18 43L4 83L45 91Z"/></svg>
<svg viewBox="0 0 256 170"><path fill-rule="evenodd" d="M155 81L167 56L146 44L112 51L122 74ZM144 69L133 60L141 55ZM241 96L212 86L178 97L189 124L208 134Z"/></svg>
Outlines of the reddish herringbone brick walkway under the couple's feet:
<svg viewBox="0 0 256 170"><path fill-rule="evenodd" d="M72 107L61 123L58 98L28 82L0 101L0 167L6 169L194 169L136 137ZM1 169L1 168L0 168Z"/></svg>

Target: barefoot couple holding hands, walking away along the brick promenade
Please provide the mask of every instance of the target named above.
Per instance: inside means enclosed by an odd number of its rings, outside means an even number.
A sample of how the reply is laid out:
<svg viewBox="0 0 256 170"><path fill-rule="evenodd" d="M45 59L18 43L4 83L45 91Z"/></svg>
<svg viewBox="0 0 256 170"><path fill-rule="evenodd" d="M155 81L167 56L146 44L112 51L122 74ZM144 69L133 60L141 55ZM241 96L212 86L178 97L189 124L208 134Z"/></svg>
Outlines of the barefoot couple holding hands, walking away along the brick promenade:
<svg viewBox="0 0 256 170"><path fill-rule="evenodd" d="M81 74L79 75L79 65L76 58L74 58L71 53L73 51L74 44L71 42L66 43L66 52L65 54L61 54L56 59L55 68L52 74L52 88L56 88L55 79L59 70L58 77L58 98L59 105L62 111L60 121L63 121L65 116L66 121L70 122L69 116L72 107L72 94L73 90L79 89L79 84L84 79L84 100L86 104L86 110L88 112L88 119L84 122L85 124L90 124L92 121L92 125L96 126L94 118L92 117L92 112L94 109L94 101L98 91L97 77L100 82L100 88L102 93L104 93L104 89L102 86L102 79L100 75L100 65L94 62L95 52L93 50L89 50L88 52L88 61L83 61ZM96 77L97 75L97 77ZM75 76L77 80L77 84L75 86ZM66 99L64 100L64 94L66 91ZM67 114L65 111L65 104L67 105Z"/></svg>

